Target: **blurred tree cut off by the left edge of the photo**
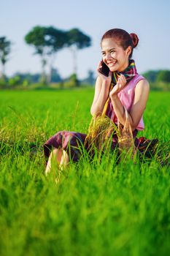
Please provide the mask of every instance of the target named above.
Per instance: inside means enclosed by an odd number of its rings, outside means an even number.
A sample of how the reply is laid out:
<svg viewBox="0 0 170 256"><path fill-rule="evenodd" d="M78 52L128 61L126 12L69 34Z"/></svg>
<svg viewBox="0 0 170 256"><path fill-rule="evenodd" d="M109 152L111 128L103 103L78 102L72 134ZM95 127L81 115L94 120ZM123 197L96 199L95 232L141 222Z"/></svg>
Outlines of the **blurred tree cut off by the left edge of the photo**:
<svg viewBox="0 0 170 256"><path fill-rule="evenodd" d="M0 37L0 60L2 64L2 78L5 77L5 64L7 63L9 53L11 52L12 42L6 39L6 37Z"/></svg>

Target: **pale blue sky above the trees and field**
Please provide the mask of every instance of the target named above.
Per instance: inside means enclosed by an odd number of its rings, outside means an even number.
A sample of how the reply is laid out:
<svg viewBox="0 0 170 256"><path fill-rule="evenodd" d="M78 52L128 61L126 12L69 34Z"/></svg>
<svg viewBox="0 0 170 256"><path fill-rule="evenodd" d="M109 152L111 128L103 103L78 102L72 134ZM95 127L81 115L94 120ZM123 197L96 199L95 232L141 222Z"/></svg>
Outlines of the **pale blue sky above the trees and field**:
<svg viewBox="0 0 170 256"><path fill-rule="evenodd" d="M55 26L69 30L78 28L92 37L93 45L80 50L77 56L78 76L85 78L88 69L96 72L101 59L100 39L113 28L134 32L139 45L134 49L138 72L170 69L170 1L101 1L101 0L1 0L0 37L14 44L7 63L7 75L15 72L39 72L39 57L26 45L24 36L34 26ZM73 72L70 50L58 52L54 67L62 77Z"/></svg>

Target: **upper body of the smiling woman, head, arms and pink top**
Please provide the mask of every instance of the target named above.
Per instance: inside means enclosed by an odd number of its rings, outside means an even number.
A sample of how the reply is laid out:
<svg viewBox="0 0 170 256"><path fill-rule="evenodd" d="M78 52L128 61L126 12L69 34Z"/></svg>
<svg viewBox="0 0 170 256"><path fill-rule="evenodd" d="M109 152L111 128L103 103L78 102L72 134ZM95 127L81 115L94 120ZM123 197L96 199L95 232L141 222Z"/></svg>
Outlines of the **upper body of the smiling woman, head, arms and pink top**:
<svg viewBox="0 0 170 256"><path fill-rule="evenodd" d="M96 95L91 107L93 116L100 115L109 94L108 106L112 102L110 105L112 117L110 118L115 117L116 123L118 118L121 124L125 124L125 110L123 108L125 107L129 111L133 130L137 128L139 123L140 127L138 128L144 129L142 114L146 108L149 93L149 83L137 73L135 62L131 59L138 42L139 39L136 34L128 34L123 29L110 29L101 38L102 59L109 67L110 72L109 77L102 75L99 72L101 62L98 64ZM115 84L112 90L110 90L111 82ZM125 91L128 97L125 96Z"/></svg>

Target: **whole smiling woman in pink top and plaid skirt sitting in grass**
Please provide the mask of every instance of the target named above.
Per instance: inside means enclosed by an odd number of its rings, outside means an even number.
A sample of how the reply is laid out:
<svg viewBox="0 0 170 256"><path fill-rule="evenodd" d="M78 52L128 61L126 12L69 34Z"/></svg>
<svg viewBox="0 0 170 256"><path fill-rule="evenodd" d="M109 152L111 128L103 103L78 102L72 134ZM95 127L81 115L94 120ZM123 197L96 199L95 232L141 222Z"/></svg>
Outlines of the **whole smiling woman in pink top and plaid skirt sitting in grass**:
<svg viewBox="0 0 170 256"><path fill-rule="evenodd" d="M100 116L106 108L106 115L115 124L119 121L123 125L125 124L125 109L127 109L134 138L138 130L144 129L142 115L150 91L149 83L137 73L134 60L131 59L138 42L136 34L128 34L123 29L110 29L101 38L102 61L109 67L109 76L101 74L102 62L100 61L97 67L98 78L94 99L90 108L93 118ZM110 86L111 82L115 85L113 88ZM67 165L70 152L73 161L78 161L80 151L76 147L80 143L84 144L85 138L86 135L80 132L61 131L47 140L45 143L47 159L45 173L50 172L52 158L60 166ZM117 144L116 136L113 136L112 144L114 148ZM52 148L54 148L53 151Z"/></svg>

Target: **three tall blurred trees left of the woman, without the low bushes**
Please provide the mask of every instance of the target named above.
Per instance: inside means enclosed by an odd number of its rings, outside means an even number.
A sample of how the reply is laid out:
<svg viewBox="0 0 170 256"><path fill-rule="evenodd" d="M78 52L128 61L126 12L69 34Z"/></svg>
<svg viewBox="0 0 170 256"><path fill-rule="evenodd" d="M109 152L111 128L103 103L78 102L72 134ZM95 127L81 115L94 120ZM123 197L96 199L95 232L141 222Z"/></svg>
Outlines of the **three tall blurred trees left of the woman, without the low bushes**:
<svg viewBox="0 0 170 256"><path fill-rule="evenodd" d="M74 28L69 31L56 29L53 26L35 26L24 37L26 44L34 48L34 54L40 57L41 76L39 82L47 84L51 82L53 64L57 53L63 48L69 48L74 61L74 75L77 75L77 50L88 48L91 45L91 38L80 29ZM12 42L7 37L0 37L0 61L2 65L1 78L5 78L5 66L9 53L12 50ZM50 72L47 74L47 64Z"/></svg>

